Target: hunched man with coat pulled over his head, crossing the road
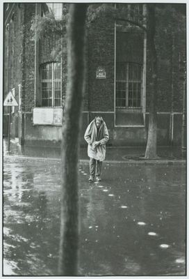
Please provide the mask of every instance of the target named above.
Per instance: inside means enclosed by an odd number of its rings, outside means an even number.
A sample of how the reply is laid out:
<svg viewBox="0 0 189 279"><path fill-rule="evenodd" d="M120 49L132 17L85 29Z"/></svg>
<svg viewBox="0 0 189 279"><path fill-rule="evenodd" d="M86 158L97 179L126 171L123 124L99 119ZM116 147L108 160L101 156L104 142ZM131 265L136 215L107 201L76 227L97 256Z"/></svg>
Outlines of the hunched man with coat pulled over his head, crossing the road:
<svg viewBox="0 0 189 279"><path fill-rule="evenodd" d="M88 156L90 157L90 178L94 181L101 181L101 163L106 156L106 142L109 140L108 129L104 120L97 116L88 125L84 135L88 143Z"/></svg>

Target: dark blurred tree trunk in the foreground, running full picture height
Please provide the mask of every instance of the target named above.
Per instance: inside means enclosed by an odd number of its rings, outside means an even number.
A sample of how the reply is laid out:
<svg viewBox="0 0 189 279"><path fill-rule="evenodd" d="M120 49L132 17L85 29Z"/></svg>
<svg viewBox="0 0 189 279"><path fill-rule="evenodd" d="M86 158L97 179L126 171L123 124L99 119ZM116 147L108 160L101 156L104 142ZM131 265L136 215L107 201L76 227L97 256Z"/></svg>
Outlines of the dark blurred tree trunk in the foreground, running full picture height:
<svg viewBox="0 0 189 279"><path fill-rule="evenodd" d="M78 158L84 91L85 3L70 4L67 27L67 96L62 141L62 196L58 273L76 276L79 246Z"/></svg>

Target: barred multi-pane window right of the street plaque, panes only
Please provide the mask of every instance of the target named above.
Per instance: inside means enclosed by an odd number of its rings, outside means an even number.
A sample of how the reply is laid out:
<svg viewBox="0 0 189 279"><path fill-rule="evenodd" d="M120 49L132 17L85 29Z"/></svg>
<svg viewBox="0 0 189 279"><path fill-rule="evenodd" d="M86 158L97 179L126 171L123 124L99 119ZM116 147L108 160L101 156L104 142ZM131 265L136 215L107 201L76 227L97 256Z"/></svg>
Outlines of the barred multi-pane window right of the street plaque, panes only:
<svg viewBox="0 0 189 279"><path fill-rule="evenodd" d="M117 108L140 107L142 66L138 63L117 62L116 100Z"/></svg>

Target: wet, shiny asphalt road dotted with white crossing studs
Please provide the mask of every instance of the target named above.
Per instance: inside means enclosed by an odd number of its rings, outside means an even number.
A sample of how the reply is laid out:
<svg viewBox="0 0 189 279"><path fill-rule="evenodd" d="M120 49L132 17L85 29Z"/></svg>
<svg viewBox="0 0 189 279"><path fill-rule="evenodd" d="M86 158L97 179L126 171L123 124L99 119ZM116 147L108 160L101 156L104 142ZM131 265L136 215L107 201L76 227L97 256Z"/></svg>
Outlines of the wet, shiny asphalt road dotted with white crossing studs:
<svg viewBox="0 0 189 279"><path fill-rule="evenodd" d="M185 275L185 166L102 169L88 183L79 167L79 275ZM58 160L4 159L4 275L58 275L60 183Z"/></svg>

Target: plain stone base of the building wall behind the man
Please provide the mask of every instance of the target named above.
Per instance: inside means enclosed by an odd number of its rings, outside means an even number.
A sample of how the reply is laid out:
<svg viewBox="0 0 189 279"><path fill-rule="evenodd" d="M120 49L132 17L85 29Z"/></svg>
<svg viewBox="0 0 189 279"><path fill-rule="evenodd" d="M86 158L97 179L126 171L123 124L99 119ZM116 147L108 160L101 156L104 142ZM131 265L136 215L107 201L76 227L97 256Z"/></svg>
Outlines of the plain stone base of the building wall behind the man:
<svg viewBox="0 0 189 279"><path fill-rule="evenodd" d="M115 117L111 112L83 112L80 142L85 145L84 133L88 123L100 115L106 122L110 134L109 146L145 146L149 114L145 116L145 126L115 126ZM17 120L18 119L18 120ZM18 122L18 123L17 123ZM172 123L171 123L172 122ZM26 146L59 147L62 137L61 126L34 126L32 113L19 113L11 124L12 135L19 137L19 144ZM182 114L158 113L158 145L181 146ZM3 116L3 135L8 131L8 116Z"/></svg>

